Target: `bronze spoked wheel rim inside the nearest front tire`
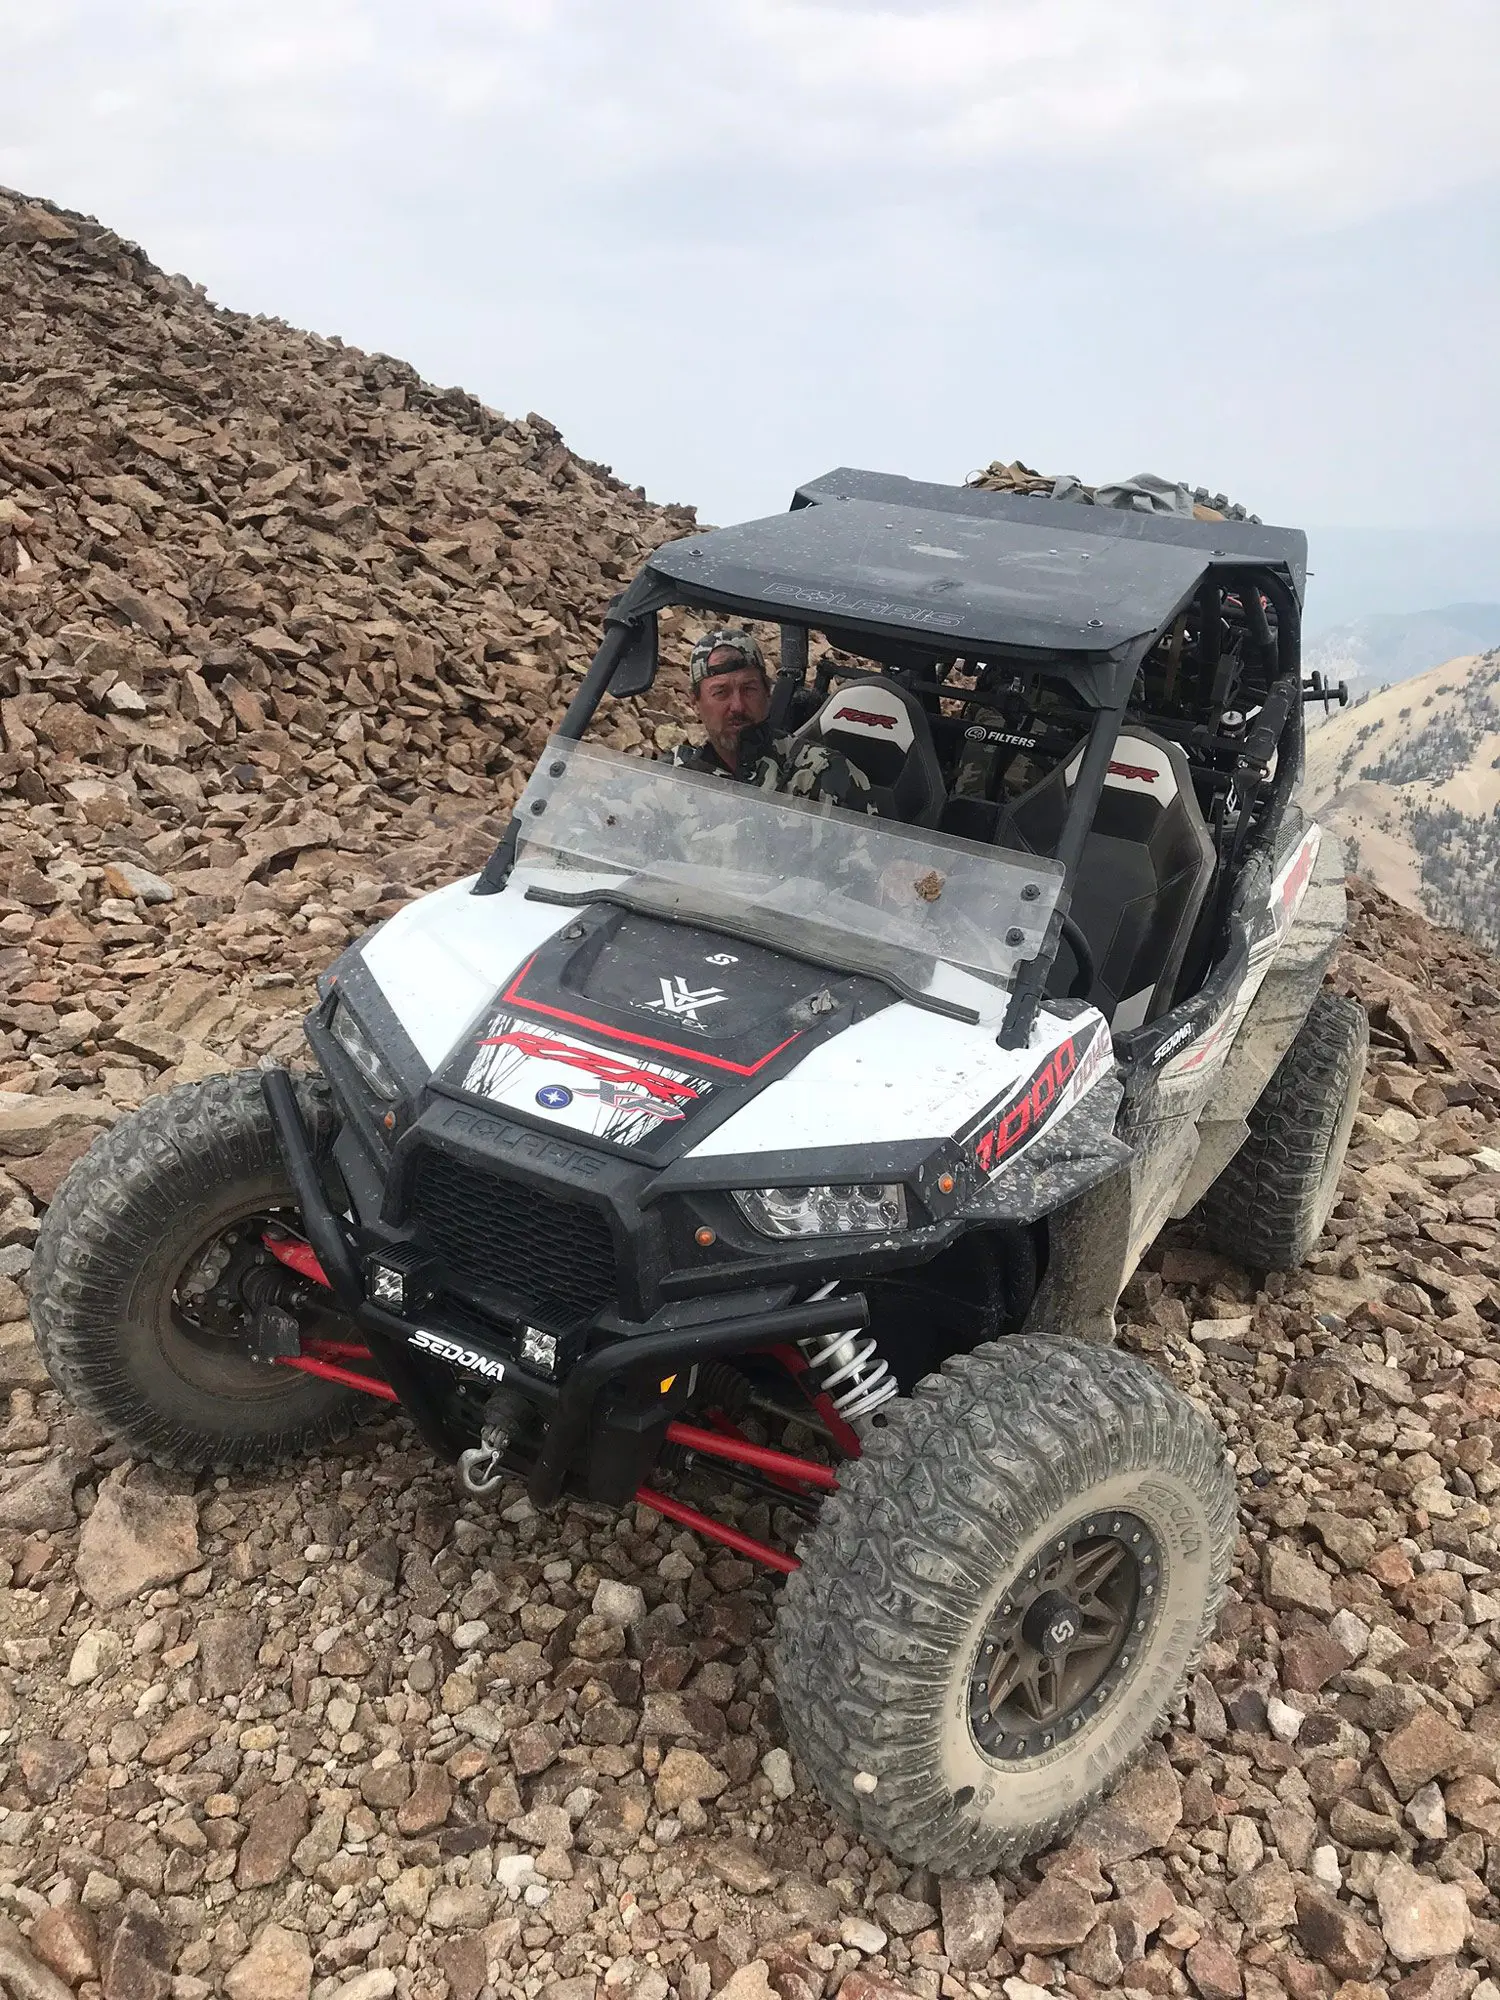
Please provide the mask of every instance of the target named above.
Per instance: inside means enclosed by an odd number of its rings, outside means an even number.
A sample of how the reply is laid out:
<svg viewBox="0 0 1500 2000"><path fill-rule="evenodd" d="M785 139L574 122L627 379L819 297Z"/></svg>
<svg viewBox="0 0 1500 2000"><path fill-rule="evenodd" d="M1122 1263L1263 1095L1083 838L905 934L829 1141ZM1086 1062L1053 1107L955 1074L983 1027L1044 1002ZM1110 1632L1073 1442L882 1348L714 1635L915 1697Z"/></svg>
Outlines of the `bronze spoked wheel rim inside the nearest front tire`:
<svg viewBox="0 0 1500 2000"><path fill-rule="evenodd" d="M1080 1516L1010 1580L968 1684L978 1748L1044 1756L1104 1710L1156 1620L1160 1550L1138 1514Z"/></svg>

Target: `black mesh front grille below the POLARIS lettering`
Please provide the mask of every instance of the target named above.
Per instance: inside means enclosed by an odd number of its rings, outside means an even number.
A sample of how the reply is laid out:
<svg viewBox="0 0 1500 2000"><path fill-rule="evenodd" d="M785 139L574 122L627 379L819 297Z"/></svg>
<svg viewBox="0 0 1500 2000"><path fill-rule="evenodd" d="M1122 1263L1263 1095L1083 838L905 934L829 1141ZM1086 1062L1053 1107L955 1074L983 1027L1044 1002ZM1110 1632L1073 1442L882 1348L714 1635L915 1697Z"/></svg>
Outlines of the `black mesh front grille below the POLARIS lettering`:
<svg viewBox="0 0 1500 2000"><path fill-rule="evenodd" d="M610 1224L584 1202L424 1150L412 1178L412 1220L456 1290L510 1296L560 1328L614 1304Z"/></svg>

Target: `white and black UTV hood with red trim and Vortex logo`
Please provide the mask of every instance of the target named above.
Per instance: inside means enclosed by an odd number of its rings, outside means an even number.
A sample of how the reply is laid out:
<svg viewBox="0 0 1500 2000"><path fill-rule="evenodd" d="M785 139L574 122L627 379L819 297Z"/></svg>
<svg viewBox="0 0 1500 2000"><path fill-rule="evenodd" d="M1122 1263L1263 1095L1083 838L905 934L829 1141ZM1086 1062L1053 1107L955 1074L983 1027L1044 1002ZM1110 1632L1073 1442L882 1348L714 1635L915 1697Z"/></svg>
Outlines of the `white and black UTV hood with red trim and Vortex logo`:
<svg viewBox="0 0 1500 2000"><path fill-rule="evenodd" d="M994 1182L1110 1070L1092 1008L1044 1008L1030 1046L1006 1050L1002 996L960 1022L692 922L516 888L424 896L360 958L440 1090L652 1166L956 1140ZM1048 1082L1058 1056L1066 1088Z"/></svg>

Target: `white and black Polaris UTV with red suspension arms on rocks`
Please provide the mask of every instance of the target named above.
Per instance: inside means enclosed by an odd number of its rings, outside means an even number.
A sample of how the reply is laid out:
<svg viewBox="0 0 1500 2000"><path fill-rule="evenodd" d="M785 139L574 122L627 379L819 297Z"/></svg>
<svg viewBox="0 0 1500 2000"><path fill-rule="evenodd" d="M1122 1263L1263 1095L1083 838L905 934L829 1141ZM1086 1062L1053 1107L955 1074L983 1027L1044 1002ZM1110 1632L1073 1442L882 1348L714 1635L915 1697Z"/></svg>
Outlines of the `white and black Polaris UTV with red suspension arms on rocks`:
<svg viewBox="0 0 1500 2000"><path fill-rule="evenodd" d="M72 1170L52 1378L168 1464L384 1398L470 1494L648 1502L788 1574L786 1730L866 1836L956 1874L1058 1838L1234 1540L1118 1294L1192 1208L1296 1264L1356 1104L1304 552L866 472L658 550L484 872L324 974L318 1074L174 1090ZM774 722L878 818L584 742L666 606L778 626Z"/></svg>

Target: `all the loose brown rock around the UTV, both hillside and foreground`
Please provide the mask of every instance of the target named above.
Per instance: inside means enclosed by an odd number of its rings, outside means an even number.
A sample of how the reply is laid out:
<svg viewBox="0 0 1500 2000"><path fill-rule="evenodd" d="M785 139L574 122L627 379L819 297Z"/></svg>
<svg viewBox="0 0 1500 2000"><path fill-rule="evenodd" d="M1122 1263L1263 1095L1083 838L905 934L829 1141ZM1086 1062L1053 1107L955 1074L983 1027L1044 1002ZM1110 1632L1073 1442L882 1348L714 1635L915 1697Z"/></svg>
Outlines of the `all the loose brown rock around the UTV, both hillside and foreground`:
<svg viewBox="0 0 1500 2000"><path fill-rule="evenodd" d="M0 384L30 704L0 710L0 1988L1500 2000L1500 974L1374 892L1336 968L1372 1070L1316 1256L1262 1284L1184 1226L1124 1302L1236 1458L1226 1616L1164 1742L1016 1876L850 1842L782 1744L774 1586L648 1510L470 1500L380 1412L318 1464L194 1484L46 1386L24 1280L74 1154L164 1082L296 1048L316 966L488 840L516 774L484 764L502 738L524 764L614 584L584 536L686 516L4 200L32 358ZM78 382L34 394L44 368ZM372 516L344 534L350 468ZM480 518L482 574L432 556L432 522ZM196 600L202 544L260 596Z"/></svg>

